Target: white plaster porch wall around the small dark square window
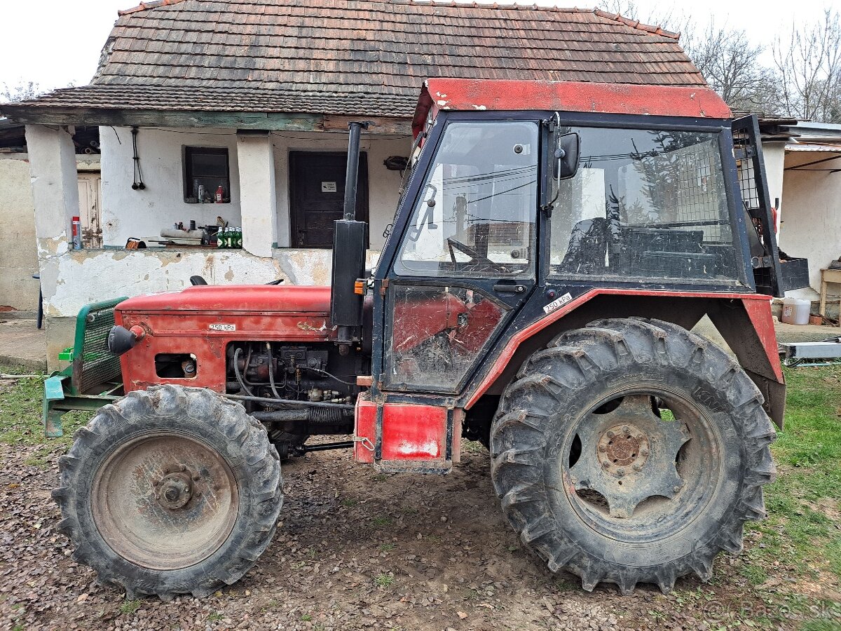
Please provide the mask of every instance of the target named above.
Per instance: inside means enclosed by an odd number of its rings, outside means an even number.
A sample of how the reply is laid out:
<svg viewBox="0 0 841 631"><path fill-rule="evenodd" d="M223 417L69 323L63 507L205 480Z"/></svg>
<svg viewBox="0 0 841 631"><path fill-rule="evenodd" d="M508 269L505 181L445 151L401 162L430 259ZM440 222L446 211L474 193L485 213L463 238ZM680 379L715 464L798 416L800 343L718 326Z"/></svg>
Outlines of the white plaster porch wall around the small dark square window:
<svg viewBox="0 0 841 631"><path fill-rule="evenodd" d="M241 225L240 178L235 130L150 129L141 127L137 150L144 190L134 190L134 161L129 127L100 127L103 177L103 245L123 247L129 237L144 241L161 238L161 228L182 221L188 225L215 224L221 215ZM182 154L184 146L228 148L230 204L184 202Z"/></svg>

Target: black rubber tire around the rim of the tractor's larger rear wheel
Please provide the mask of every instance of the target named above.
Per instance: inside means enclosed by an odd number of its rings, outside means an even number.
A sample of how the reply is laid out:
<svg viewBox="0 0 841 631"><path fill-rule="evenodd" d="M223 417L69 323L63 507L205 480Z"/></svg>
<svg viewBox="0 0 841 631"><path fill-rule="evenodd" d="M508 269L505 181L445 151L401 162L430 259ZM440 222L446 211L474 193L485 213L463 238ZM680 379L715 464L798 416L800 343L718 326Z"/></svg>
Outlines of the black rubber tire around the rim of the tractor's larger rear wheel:
<svg viewBox="0 0 841 631"><path fill-rule="evenodd" d="M569 440L568 427L579 427L576 418L635 379L662 380L690 395L725 438L726 470L721 483L708 485L715 493L709 517L705 512L656 542L627 544L596 532L575 511L563 489L558 446ZM741 552L743 523L764 517L762 485L775 476L769 449L775 429L762 403L733 358L680 326L637 318L591 322L534 353L506 388L491 429L495 490L522 541L550 570L579 575L587 591L604 581L628 594L646 582L665 593L692 572L708 581L721 550Z"/></svg>

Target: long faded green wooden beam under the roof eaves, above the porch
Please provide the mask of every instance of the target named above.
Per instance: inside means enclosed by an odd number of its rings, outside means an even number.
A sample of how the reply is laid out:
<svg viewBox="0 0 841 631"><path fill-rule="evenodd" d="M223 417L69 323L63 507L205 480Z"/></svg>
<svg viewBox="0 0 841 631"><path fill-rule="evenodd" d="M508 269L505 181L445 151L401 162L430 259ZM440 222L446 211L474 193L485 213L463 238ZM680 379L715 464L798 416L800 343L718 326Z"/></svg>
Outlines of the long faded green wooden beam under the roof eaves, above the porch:
<svg viewBox="0 0 841 631"><path fill-rule="evenodd" d="M273 112L185 112L147 109L47 108L3 106L3 114L30 125L77 125L93 127L218 127L239 130L322 131L320 114Z"/></svg>

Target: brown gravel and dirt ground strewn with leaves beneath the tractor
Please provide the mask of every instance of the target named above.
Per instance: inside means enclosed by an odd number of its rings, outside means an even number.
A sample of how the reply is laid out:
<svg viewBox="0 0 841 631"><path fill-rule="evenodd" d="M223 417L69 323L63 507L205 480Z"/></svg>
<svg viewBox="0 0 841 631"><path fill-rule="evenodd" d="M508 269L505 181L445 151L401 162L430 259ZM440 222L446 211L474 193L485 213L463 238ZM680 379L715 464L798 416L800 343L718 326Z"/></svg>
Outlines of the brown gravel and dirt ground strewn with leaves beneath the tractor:
<svg viewBox="0 0 841 631"><path fill-rule="evenodd" d="M212 597L164 603L126 601L73 562L50 499L57 452L36 467L24 464L34 448L0 445L0 629L698 629L765 616L775 622L758 626L793 627L730 557L712 585L684 579L668 597L581 591L523 549L487 453L464 451L447 476L377 474L348 452L286 464L283 522L257 565Z"/></svg>

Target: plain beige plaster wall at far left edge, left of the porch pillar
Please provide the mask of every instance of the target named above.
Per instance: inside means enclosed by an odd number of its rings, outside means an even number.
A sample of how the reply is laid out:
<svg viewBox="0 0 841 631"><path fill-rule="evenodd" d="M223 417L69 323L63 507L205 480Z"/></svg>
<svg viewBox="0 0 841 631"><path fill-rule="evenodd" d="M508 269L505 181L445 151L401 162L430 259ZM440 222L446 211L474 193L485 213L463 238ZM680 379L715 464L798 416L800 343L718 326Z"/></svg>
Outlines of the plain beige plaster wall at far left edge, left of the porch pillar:
<svg viewBox="0 0 841 631"><path fill-rule="evenodd" d="M29 160L25 153L0 153L0 305L38 309L38 253Z"/></svg>

